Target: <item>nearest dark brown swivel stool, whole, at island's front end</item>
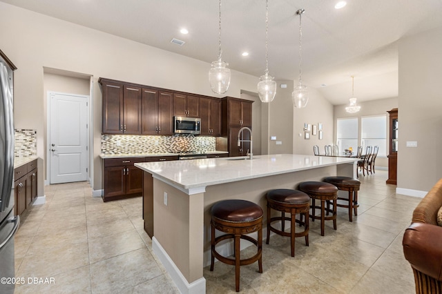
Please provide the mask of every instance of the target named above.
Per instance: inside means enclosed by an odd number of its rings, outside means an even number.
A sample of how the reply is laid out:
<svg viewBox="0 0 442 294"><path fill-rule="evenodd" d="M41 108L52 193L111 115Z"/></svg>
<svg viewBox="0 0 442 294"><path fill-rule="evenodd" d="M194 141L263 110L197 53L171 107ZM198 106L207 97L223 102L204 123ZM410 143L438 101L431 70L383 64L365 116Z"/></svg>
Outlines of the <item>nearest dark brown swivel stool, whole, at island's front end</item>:
<svg viewBox="0 0 442 294"><path fill-rule="evenodd" d="M258 261L259 272L262 273L262 208L258 204L247 200L223 200L211 208L211 264L213 271L215 257L224 264L235 266L236 292L240 291L240 266L253 264ZM215 238L215 229L227 233ZM258 231L258 239L245 235ZM234 239L235 258L220 255L215 245L224 239ZM258 247L256 255L247 259L240 259L240 239L246 239Z"/></svg>

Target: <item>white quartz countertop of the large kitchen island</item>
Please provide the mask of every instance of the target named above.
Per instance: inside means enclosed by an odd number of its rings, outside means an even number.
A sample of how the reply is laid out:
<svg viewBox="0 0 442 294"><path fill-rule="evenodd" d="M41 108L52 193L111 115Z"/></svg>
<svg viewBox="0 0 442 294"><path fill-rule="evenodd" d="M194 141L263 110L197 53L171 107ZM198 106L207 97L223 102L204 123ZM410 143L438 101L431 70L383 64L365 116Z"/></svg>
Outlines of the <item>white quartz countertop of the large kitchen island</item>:
<svg viewBox="0 0 442 294"><path fill-rule="evenodd" d="M180 190L189 191L216 184L292 173L298 170L351 164L358 160L357 158L292 154L257 155L252 160L244 158L246 157L142 162L135 164L135 166Z"/></svg>

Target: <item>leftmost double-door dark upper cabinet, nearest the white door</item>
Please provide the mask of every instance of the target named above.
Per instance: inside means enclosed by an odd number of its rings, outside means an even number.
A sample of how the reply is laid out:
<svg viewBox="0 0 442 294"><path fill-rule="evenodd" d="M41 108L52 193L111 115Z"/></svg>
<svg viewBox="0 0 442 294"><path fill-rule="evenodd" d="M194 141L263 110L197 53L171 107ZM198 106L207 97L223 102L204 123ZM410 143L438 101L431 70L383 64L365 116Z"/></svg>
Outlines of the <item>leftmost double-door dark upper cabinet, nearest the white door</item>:
<svg viewBox="0 0 442 294"><path fill-rule="evenodd" d="M103 93L103 134L140 135L142 89L116 81L99 79Z"/></svg>

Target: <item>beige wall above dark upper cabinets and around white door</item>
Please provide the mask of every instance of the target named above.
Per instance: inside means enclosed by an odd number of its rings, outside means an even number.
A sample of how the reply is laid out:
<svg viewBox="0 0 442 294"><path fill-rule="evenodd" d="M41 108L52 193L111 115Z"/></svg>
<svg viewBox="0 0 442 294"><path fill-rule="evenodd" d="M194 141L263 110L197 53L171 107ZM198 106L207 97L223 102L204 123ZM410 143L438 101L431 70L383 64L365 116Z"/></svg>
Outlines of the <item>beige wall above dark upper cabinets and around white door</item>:
<svg viewBox="0 0 442 294"><path fill-rule="evenodd" d="M46 161L44 68L94 77L94 189L101 189L102 94L99 77L213 95L209 63L60 21L0 2L1 50L15 63L15 128L37 130L37 155ZM232 70L228 95L256 92L259 79Z"/></svg>

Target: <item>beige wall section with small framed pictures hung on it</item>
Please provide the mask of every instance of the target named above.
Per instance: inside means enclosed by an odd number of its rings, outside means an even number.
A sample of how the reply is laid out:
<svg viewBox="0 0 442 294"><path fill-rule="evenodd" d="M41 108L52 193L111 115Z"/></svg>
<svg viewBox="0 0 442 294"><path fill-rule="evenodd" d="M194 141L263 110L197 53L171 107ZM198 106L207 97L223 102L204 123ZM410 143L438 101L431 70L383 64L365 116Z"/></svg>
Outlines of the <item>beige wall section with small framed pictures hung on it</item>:
<svg viewBox="0 0 442 294"><path fill-rule="evenodd" d="M333 143L333 106L318 90L309 88L309 102L305 108L294 108L293 121L294 154L313 155L314 145L323 148L324 145ZM310 139L304 139L304 124L323 124L323 139L320 140L318 135L311 135L311 132Z"/></svg>

